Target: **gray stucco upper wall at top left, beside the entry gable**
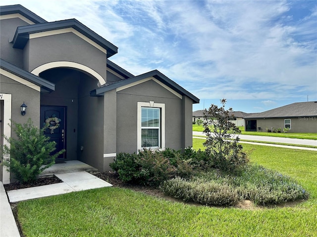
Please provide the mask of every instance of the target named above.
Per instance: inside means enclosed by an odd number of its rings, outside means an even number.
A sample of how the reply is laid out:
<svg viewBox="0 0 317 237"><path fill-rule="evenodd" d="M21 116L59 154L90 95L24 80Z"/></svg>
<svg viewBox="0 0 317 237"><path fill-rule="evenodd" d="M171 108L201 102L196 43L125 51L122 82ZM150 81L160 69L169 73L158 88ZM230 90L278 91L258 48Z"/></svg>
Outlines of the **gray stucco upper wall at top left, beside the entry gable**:
<svg viewBox="0 0 317 237"><path fill-rule="evenodd" d="M19 67L23 68L23 50L13 48L13 43L9 40L13 40L16 28L18 26L29 25L20 18L11 18L0 20L0 55L1 59Z"/></svg>

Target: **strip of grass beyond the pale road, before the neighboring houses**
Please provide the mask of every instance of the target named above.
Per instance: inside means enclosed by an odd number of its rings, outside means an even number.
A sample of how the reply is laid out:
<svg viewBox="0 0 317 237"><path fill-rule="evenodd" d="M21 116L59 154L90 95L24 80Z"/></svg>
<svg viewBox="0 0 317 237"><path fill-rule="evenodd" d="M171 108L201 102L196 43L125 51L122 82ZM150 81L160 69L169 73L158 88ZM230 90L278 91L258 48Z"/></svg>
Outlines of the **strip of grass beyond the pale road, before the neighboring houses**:
<svg viewBox="0 0 317 237"><path fill-rule="evenodd" d="M241 130L241 134L244 134L244 135L270 136L270 137L288 137L288 138L317 140L317 133L246 132L246 131L244 131L244 127L239 127L239 129ZM204 126L203 125L193 124L193 131L202 132L202 131L204 131Z"/></svg>

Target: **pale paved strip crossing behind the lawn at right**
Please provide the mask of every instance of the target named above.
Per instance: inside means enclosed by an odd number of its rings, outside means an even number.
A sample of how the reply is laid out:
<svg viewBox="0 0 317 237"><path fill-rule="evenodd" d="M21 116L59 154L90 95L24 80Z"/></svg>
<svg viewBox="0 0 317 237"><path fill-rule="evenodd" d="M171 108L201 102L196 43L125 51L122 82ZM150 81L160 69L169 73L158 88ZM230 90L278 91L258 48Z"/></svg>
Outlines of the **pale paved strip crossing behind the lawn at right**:
<svg viewBox="0 0 317 237"><path fill-rule="evenodd" d="M193 131L193 136L195 135L206 136L205 133L203 132ZM309 140L309 139L297 139L297 138L287 138L287 137L267 137L267 136L254 136L254 135L243 135L243 134L240 134L239 138L241 140L250 140L250 141L317 146L317 140Z"/></svg>

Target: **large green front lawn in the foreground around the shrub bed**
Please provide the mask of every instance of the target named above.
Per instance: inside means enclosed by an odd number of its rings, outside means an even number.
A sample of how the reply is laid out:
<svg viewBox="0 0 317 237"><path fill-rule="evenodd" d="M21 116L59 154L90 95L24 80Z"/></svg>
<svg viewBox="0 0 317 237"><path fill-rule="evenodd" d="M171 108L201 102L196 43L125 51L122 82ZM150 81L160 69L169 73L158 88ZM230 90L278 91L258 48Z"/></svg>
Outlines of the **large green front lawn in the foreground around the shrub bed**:
<svg viewBox="0 0 317 237"><path fill-rule="evenodd" d="M193 139L203 148L202 139ZM308 201L292 207L219 208L184 204L121 188L103 188L18 203L27 237L317 236L317 153L243 144L251 161L298 180Z"/></svg>

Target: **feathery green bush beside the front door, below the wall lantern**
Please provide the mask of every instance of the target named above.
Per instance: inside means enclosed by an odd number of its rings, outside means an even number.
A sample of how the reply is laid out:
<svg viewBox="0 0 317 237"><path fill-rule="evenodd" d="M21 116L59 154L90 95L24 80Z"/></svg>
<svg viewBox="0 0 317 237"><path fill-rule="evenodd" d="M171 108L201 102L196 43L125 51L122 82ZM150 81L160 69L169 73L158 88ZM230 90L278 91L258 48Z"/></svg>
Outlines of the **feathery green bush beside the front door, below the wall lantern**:
<svg viewBox="0 0 317 237"><path fill-rule="evenodd" d="M12 172L20 183L34 182L40 173L55 163L55 158L64 153L56 150L55 142L44 135L47 127L39 129L33 125L29 118L23 125L11 121L11 128L17 138L4 137L10 144L3 146L3 165L7 171Z"/></svg>

